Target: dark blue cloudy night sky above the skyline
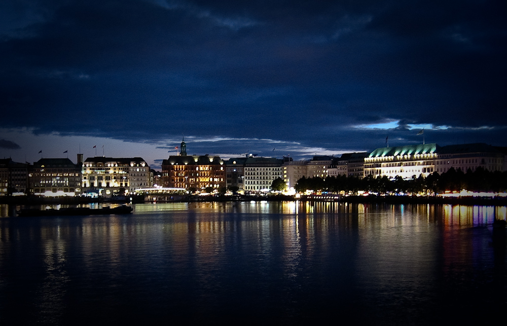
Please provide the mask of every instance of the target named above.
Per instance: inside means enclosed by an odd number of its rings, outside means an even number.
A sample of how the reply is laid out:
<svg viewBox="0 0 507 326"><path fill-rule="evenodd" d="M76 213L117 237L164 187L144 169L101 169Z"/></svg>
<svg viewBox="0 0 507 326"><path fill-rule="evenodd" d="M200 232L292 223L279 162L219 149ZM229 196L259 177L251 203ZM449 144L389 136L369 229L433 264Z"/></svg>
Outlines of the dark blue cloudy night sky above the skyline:
<svg viewBox="0 0 507 326"><path fill-rule="evenodd" d="M506 6L3 0L0 157L507 146Z"/></svg>

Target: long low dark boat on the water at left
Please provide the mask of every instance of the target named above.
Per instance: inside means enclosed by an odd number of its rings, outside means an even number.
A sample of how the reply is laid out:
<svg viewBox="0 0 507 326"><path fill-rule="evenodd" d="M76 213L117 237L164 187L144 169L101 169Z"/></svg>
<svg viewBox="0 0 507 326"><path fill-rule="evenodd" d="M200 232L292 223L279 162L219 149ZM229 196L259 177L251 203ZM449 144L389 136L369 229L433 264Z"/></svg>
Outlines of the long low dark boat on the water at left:
<svg viewBox="0 0 507 326"><path fill-rule="evenodd" d="M61 208L59 210L49 209L40 210L34 208L20 209L16 211L18 216L74 216L74 215L111 215L111 214L130 214L132 213L131 206L118 206L115 208L103 207L100 209L91 209L89 207L69 207Z"/></svg>

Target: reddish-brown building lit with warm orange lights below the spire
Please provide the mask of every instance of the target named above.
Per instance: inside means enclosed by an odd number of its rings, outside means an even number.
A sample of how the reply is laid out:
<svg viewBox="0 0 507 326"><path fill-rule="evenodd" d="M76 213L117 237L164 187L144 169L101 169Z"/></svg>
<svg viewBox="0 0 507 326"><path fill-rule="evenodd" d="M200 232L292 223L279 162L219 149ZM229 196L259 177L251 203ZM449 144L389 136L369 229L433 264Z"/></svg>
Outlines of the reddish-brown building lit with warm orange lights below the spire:
<svg viewBox="0 0 507 326"><path fill-rule="evenodd" d="M226 186L225 179L224 161L219 156L171 155L162 161L163 187L219 188Z"/></svg>

